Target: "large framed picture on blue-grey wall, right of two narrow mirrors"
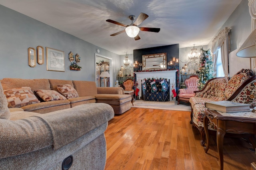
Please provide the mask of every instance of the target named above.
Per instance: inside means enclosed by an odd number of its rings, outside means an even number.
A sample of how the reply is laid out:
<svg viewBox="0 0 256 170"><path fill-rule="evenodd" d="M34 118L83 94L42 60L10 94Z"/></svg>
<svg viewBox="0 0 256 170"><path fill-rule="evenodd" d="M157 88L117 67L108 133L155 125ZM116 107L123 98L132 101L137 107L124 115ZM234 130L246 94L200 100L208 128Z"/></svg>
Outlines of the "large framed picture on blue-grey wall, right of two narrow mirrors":
<svg viewBox="0 0 256 170"><path fill-rule="evenodd" d="M48 71L65 71L64 51L46 47L46 69Z"/></svg>

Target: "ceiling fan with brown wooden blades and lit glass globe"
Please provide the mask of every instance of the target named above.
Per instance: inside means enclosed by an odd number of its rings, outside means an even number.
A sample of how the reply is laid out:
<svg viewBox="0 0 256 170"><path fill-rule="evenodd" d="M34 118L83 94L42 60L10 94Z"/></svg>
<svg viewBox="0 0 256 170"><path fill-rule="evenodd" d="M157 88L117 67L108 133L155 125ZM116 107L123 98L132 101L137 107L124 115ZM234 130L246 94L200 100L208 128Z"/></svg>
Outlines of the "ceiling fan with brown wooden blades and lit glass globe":
<svg viewBox="0 0 256 170"><path fill-rule="evenodd" d="M144 20L146 20L146 18L148 18L147 14L140 13L140 15L138 16L138 18L136 20L135 20L136 17L134 15L129 16L129 18L132 21L132 23L130 25L125 25L123 23L113 21L113 20L106 20L107 22L115 23L117 25L126 27L124 30L119 31L114 34L111 34L110 36L116 36L120 33L126 32L126 34L129 37L134 38L135 40L138 40L138 39L140 39L140 36L138 35L139 31L150 31L150 32L156 32L156 33L158 33L160 31L160 28L138 27L138 25L140 25ZM134 23L133 23L133 21L134 21Z"/></svg>

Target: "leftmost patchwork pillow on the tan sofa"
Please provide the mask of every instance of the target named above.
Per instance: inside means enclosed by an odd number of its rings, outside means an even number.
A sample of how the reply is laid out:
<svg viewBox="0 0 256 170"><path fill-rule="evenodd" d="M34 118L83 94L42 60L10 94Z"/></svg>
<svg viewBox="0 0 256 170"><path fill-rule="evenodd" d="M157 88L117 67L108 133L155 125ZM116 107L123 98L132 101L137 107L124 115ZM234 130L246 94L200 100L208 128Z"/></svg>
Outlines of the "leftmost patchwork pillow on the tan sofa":
<svg viewBox="0 0 256 170"><path fill-rule="evenodd" d="M30 87L12 88L4 90L7 98L8 107L22 107L29 104L39 103Z"/></svg>

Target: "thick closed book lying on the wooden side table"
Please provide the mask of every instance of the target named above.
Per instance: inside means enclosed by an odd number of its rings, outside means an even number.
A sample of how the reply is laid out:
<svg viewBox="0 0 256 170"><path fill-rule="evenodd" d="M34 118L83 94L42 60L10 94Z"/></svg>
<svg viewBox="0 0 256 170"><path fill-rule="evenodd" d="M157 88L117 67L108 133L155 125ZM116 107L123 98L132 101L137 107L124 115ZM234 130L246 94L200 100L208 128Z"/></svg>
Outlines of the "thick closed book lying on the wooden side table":
<svg viewBox="0 0 256 170"><path fill-rule="evenodd" d="M250 104L243 104L230 101L206 102L205 107L208 109L213 109L224 113L250 111Z"/></svg>

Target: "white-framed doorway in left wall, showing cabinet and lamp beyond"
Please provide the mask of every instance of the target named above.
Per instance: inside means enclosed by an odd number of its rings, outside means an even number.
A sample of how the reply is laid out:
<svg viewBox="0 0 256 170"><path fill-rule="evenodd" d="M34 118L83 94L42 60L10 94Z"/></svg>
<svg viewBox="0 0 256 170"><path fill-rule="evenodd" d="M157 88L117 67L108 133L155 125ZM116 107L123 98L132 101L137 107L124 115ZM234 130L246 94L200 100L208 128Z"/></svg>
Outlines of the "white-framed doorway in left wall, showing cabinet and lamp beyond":
<svg viewBox="0 0 256 170"><path fill-rule="evenodd" d="M109 77L100 77L101 72L108 72ZM95 53L95 81L97 87L113 87L112 59Z"/></svg>

